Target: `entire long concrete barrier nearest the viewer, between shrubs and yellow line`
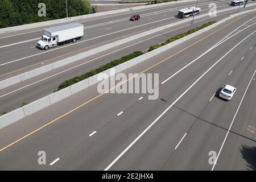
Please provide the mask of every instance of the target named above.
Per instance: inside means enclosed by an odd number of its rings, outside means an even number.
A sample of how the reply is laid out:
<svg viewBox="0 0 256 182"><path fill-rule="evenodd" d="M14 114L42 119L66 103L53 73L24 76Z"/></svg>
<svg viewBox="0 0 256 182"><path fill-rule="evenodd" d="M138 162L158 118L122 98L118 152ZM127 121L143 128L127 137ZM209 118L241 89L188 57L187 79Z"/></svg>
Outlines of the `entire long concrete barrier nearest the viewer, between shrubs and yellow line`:
<svg viewBox="0 0 256 182"><path fill-rule="evenodd" d="M245 13L250 13L252 11L255 11L255 10L243 11L243 12L237 14L237 16L241 15L241 14L245 14ZM167 49L170 49L170 48L176 46L179 43L185 42L186 40L191 39L191 38L195 37L198 34L206 32L209 29L211 29L213 27L216 27L219 24L224 23L226 20L229 20L233 17L234 16L229 16L228 18L220 20L219 22L214 23L214 24L212 24L211 26L209 26L207 28L203 28L203 29L201 29L201 30L199 30L199 31L197 31L193 34L190 34L188 36L185 36L184 38L176 40L175 42L169 43L166 46L162 46L162 47L160 47L158 49L154 49L153 51L150 51L148 53L144 53L141 56L135 57L134 59L131 59L131 60L126 62L127 63L127 68L130 68L130 67L134 66L135 64L141 63L142 61L147 60L148 58L153 57L153 56L157 55L158 53L166 51ZM120 72L121 70L124 70L125 67L126 67L125 64L123 64L123 65L120 64L120 65L117 65L116 67L114 67L114 69L116 70L116 72L117 71ZM113 69L113 68L110 68L110 69ZM104 73L107 73L108 76L110 76L110 69L104 71ZM26 117L26 116L28 116L32 113L35 113L36 111L39 111L39 110L43 109L44 107L55 104L56 102L58 102L60 100L63 100L64 98L67 98L68 96L71 96L72 94L80 92L82 89L88 88L88 86L91 86L91 85L96 84L97 82L100 82L101 80L98 80L97 77L98 77L98 74L94 75L92 77L89 77L86 80L82 80L80 82L77 82L76 84L71 85L71 86L69 86L65 89L59 90L58 92L49 94L46 97L43 97L43 98L41 98L37 101L31 102L30 104L28 104L26 106L23 106L19 109L11 111L10 113L2 115L0 117L0 129L2 129L3 127L6 127L8 125L11 125L11 123L19 121L20 119L22 119L22 118L24 118L24 117Z"/></svg>

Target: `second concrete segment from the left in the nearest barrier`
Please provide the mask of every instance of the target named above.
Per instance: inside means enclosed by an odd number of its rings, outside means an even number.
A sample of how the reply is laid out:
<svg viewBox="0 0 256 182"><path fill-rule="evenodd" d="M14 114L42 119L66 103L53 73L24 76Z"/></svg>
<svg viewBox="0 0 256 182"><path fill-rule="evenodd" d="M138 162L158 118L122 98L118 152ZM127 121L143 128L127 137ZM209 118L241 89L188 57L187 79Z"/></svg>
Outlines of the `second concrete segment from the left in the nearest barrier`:
<svg viewBox="0 0 256 182"><path fill-rule="evenodd" d="M31 102L30 104L27 104L22 108L24 110L25 115L28 116L41 109L48 107L49 105L51 105L51 103L49 102L49 97L46 96L46 97L40 98L39 100Z"/></svg>

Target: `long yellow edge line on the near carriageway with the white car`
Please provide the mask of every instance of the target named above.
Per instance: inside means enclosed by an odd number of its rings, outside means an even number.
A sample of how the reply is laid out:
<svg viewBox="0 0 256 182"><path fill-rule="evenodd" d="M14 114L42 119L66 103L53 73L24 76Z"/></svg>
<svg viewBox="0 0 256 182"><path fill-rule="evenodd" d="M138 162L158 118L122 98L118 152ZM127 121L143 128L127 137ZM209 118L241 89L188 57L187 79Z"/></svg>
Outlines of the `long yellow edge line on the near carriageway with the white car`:
<svg viewBox="0 0 256 182"><path fill-rule="evenodd" d="M254 13L254 12L253 12L253 13ZM250 14L253 14L253 13L250 13ZM174 55L171 55L171 56L167 57L166 59L164 59L164 60L162 60L162 61L159 61L158 63L156 63L156 64L152 65L151 67L149 67L149 68L147 68L147 69L145 69L144 71L140 72L138 75L140 75L141 73L144 73L144 72L148 71L148 70L149 70L149 69L151 69L151 68L156 67L156 65L159 65L159 64L163 63L164 61L166 61L166 60L170 59L171 57L174 57L175 55L179 54L180 52L183 52L183 51L185 51L186 49L188 49L189 47L191 47L191 46L193 46L193 45L195 45L195 44L197 44L197 43L201 42L202 40L204 40L204 39L208 38L210 35L215 34L216 32L218 32L218 31L222 30L223 28L225 28L225 27L226 27L226 26L228 26L229 24L232 24L233 22L236 22L237 20L239 20L239 19L241 19L241 18L243 18L243 17L245 17L245 16L247 16L247 15L250 15L250 14L246 14L246 15L241 16L240 18L238 18L238 19L236 19L236 20L233 20L232 22L230 22L230 23L226 24L224 27L219 28L218 30L216 30L216 31L212 32L211 34L209 34L209 35L205 36L204 38L202 38L202 39L200 39L200 40L197 40L197 42L195 42L195 43L191 44L190 46L185 47L184 49L181 49L180 51L178 51L178 52L174 53ZM61 119L61 118L65 117L66 115L68 115L68 114L72 113L73 111L75 111L75 110L79 109L80 107L82 107L82 106L84 106L84 105L88 104L89 102L92 102L93 100L96 100L96 98L101 97L101 96L102 96L102 95L104 95L105 93L110 92L110 90L113 90L113 89L114 89L114 88L116 88L117 86L122 85L123 83L125 83L125 82L127 82L127 81L129 81L129 80L133 79L134 77L136 77L136 76L138 76L138 75L135 75L135 76L133 76L133 77L129 78L128 80L125 80L125 81L121 82L120 84L118 84L118 85L114 86L113 88L111 88L111 89L107 90L106 92L101 93L101 94L99 94L98 96L96 96L96 97L92 98L91 100L84 102L84 104L81 104L81 105L79 105L79 106L75 107L75 109L72 109L72 110L68 111L67 113L65 113L65 114L63 114L63 115L60 115L60 117L58 117L58 118L56 118L56 119L53 119L51 122L48 122L46 125L43 125L42 127L39 127L38 129L36 129L36 130L32 131L31 133L29 133L29 134L25 135L24 137L19 138L19 139L18 139L18 140L16 140L15 142L13 142L13 143L11 143L11 144L7 145L6 147L1 148L0 152L1 152L1 151L3 151L3 150L5 150L6 148L8 148L8 147L12 146L12 145L13 145L13 144L15 144L15 143L18 143L20 140L23 140L24 138L27 138L28 136L30 136L30 135L32 135L32 134L34 134L34 133L36 133L37 131L39 131L39 130L43 129L44 127L46 127L46 126L48 126L48 125L51 125L51 123L53 123L53 122L55 122L55 121L58 121L59 119Z"/></svg>

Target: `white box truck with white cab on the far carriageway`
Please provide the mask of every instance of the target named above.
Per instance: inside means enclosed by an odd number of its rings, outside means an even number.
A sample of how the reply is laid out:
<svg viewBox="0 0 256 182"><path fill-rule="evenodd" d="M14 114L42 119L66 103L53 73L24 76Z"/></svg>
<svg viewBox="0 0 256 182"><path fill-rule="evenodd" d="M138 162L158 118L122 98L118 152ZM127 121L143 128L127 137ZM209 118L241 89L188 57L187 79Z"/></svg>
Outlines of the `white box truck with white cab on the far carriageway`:
<svg viewBox="0 0 256 182"><path fill-rule="evenodd" d="M36 47L48 49L60 44L76 42L84 36L84 25L81 23L69 23L56 27L49 27L43 30L42 39L38 41Z"/></svg>

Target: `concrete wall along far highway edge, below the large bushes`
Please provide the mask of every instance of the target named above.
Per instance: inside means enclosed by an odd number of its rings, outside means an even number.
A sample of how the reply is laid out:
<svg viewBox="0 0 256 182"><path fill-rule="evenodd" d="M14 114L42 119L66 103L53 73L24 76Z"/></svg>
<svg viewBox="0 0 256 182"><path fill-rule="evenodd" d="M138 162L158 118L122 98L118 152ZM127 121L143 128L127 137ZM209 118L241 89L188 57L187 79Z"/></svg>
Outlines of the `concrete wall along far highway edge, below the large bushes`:
<svg viewBox="0 0 256 182"><path fill-rule="evenodd" d="M49 21L46 21L46 22L24 24L24 25L15 26L15 27L1 28L0 29L0 34L4 34L4 33L7 33L7 32L12 32L12 31L27 30L27 29L43 27L43 26L50 26L50 25L53 25L53 24L72 22L72 21L77 21L77 20L86 19L86 18L94 18L94 17L98 17L98 16L123 13L123 12L126 12L126 11L148 9L148 8L151 8L151 7L166 6L166 5L176 4L176 3L184 3L184 2L192 2L192 1L196 1L196 0L181 0L181 1L175 1L175 2L159 3L159 4L156 4L156 5L137 6L137 7L126 8L126 9L104 11L104 12L101 12L101 13L94 13L94 14L81 15L81 16L73 16L73 17L70 17L70 18L49 20Z"/></svg>

